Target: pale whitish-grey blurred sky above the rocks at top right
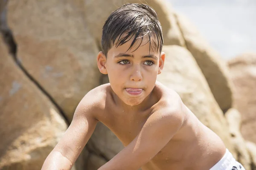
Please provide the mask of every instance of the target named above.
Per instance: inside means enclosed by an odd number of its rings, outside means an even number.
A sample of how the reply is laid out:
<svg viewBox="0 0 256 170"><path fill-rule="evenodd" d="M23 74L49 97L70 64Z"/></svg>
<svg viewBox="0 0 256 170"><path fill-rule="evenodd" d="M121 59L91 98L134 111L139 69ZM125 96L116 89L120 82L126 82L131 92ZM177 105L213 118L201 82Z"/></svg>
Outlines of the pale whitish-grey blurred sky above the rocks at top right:
<svg viewBox="0 0 256 170"><path fill-rule="evenodd" d="M256 0L167 0L225 60L256 53Z"/></svg>

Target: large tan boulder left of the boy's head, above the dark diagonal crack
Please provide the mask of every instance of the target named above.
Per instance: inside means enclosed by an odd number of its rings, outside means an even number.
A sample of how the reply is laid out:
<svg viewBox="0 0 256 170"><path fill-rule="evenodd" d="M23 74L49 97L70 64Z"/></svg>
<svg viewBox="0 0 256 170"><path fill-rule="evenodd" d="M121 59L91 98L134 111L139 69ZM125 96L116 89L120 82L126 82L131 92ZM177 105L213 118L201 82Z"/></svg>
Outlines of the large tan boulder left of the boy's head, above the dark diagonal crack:
<svg viewBox="0 0 256 170"><path fill-rule="evenodd" d="M17 58L71 122L82 97L99 85L99 52L84 21L83 0L9 0Z"/></svg>

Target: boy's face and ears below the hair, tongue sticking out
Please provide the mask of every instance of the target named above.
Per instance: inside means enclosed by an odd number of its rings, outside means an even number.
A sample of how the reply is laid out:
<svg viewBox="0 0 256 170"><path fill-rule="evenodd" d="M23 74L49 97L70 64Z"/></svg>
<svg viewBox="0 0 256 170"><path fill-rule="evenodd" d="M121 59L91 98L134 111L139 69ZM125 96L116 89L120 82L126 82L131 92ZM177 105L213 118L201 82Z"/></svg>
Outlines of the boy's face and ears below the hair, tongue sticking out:
<svg viewBox="0 0 256 170"><path fill-rule="evenodd" d="M133 38L117 48L113 46L107 58L102 52L97 57L99 70L108 74L113 91L130 106L139 105L151 93L165 59L165 54L154 48L152 41L157 40L151 38L150 53L148 38L138 39L128 50L132 41Z"/></svg>

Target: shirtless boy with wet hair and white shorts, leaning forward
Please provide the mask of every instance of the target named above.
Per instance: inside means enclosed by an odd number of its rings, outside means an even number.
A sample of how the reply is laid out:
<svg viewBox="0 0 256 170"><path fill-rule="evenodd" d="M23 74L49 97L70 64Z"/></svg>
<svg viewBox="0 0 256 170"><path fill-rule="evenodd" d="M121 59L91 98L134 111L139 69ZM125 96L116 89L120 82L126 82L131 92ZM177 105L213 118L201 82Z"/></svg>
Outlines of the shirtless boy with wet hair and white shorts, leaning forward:
<svg viewBox="0 0 256 170"><path fill-rule="evenodd" d="M70 170L98 121L125 146L99 170L244 170L180 96L156 82L165 54L151 7L125 4L102 31L97 63L110 83L84 96L43 170Z"/></svg>

